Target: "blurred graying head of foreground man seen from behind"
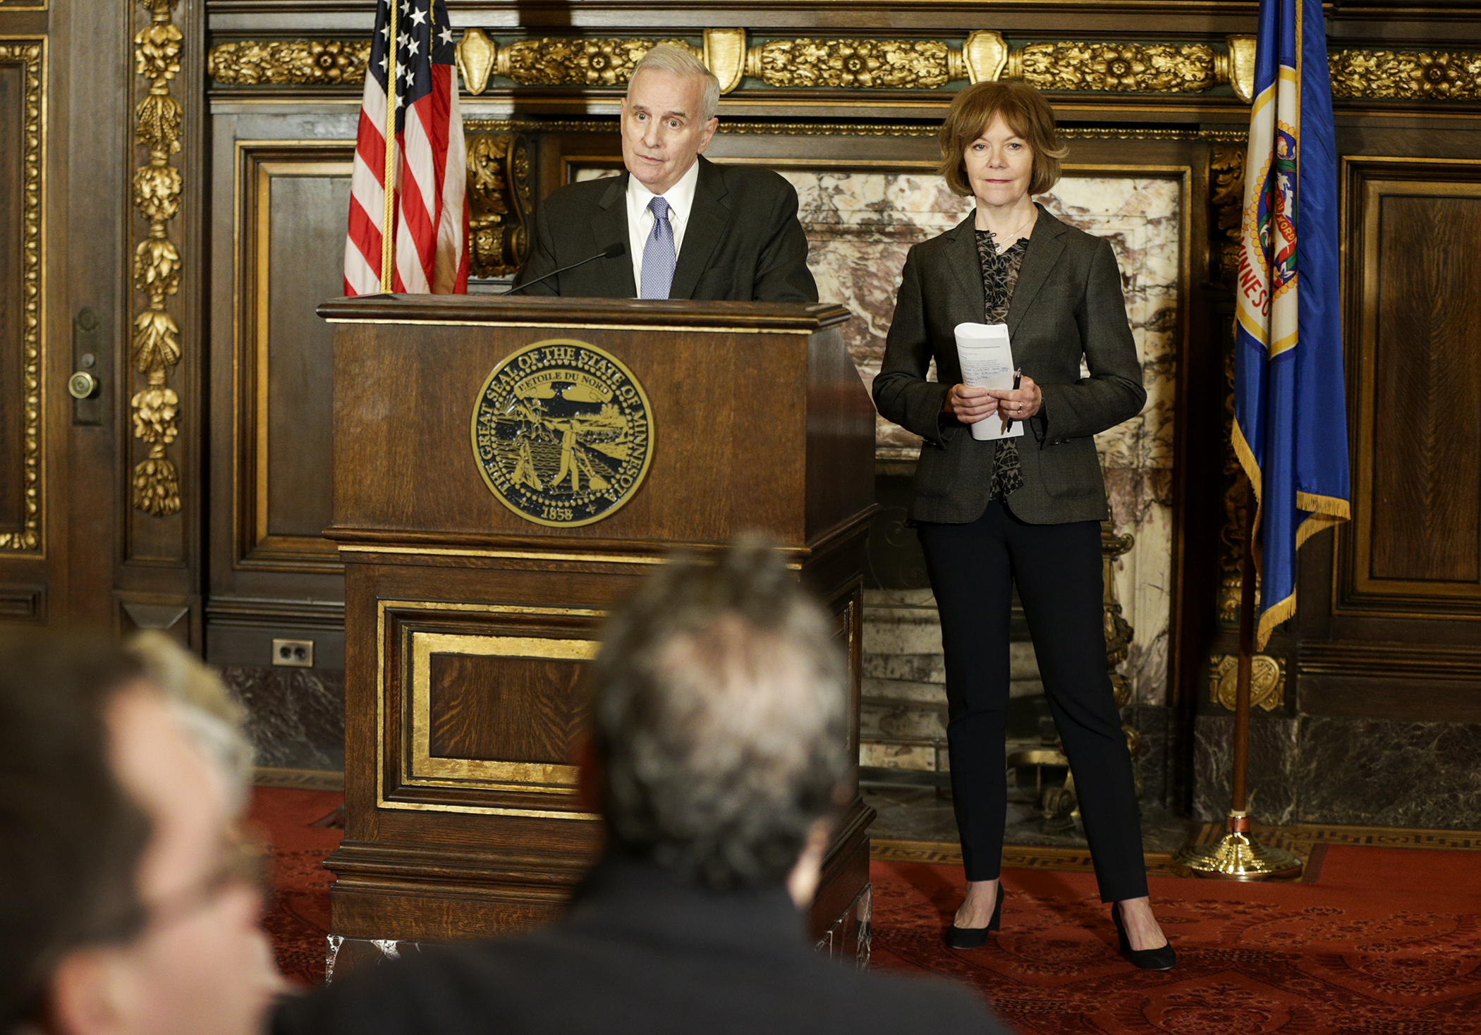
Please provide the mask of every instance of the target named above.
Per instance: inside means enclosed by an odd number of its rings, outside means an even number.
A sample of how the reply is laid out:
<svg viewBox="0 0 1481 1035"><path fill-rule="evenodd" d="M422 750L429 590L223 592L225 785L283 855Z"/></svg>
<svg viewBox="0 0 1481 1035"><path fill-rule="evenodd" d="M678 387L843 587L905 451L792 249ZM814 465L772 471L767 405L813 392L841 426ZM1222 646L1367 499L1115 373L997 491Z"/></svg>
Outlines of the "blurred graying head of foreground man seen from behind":
<svg viewBox="0 0 1481 1035"><path fill-rule="evenodd" d="M812 900L849 771L843 653L766 543L661 567L610 619L594 758L615 853L714 891Z"/></svg>

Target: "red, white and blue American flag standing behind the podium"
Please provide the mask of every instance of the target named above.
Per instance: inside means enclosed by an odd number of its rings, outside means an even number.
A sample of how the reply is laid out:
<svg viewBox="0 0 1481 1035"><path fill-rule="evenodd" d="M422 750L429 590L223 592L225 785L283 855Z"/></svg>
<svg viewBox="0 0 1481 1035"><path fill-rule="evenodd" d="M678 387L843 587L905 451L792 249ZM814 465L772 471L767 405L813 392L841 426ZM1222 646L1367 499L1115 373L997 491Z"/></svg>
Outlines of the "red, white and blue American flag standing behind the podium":
<svg viewBox="0 0 1481 1035"><path fill-rule="evenodd" d="M395 275L392 290L468 290L468 198L453 34L444 0L395 0ZM391 10L376 4L345 240L345 295L381 290Z"/></svg>

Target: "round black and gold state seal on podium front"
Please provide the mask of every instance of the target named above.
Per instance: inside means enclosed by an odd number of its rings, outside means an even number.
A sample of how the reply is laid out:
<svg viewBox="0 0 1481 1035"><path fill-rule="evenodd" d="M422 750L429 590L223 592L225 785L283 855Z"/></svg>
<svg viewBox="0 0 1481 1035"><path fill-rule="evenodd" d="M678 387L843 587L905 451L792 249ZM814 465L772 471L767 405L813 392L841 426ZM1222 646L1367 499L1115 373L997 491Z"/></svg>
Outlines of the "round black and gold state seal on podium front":
<svg viewBox="0 0 1481 1035"><path fill-rule="evenodd" d="M507 357L483 382L472 453L489 492L524 520L591 524L643 484L653 410L615 355L552 338Z"/></svg>

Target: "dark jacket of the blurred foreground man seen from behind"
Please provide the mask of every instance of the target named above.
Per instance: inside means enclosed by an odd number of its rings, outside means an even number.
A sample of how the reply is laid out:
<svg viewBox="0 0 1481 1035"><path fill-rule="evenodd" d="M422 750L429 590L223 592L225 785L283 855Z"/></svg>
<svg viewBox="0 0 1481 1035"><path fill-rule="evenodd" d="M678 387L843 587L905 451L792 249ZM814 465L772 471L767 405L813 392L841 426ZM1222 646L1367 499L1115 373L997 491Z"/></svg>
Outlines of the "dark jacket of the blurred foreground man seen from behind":
<svg viewBox="0 0 1481 1035"><path fill-rule="evenodd" d="M606 860L561 922L428 951L280 1007L274 1035L1006 1035L977 997L816 954L783 891Z"/></svg>

